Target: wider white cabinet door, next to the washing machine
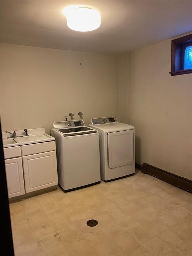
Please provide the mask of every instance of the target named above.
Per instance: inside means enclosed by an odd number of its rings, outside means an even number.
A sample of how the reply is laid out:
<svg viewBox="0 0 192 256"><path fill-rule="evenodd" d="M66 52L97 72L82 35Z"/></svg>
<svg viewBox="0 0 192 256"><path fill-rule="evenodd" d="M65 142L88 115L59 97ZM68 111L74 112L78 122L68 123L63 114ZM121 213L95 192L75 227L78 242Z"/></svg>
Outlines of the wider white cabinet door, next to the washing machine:
<svg viewBox="0 0 192 256"><path fill-rule="evenodd" d="M26 193L58 184L56 151L22 158Z"/></svg>

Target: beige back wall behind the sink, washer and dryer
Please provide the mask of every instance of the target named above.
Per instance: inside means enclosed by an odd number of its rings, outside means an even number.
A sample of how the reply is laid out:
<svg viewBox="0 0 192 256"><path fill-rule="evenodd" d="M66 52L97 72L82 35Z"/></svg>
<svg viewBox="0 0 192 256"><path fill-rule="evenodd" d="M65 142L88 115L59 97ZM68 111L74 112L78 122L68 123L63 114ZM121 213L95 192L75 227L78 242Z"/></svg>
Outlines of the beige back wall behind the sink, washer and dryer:
<svg viewBox="0 0 192 256"><path fill-rule="evenodd" d="M118 57L1 44L2 130L45 127L83 112L118 116ZM80 65L81 63L81 65Z"/></svg>

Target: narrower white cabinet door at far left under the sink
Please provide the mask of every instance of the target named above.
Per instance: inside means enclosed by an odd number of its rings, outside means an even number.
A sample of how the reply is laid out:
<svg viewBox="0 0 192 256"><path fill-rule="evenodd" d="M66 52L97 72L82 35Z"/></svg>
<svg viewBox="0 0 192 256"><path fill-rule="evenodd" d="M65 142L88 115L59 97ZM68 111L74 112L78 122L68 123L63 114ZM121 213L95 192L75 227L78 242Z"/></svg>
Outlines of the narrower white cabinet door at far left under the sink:
<svg viewBox="0 0 192 256"><path fill-rule="evenodd" d="M5 160L9 198L25 194L21 157Z"/></svg>

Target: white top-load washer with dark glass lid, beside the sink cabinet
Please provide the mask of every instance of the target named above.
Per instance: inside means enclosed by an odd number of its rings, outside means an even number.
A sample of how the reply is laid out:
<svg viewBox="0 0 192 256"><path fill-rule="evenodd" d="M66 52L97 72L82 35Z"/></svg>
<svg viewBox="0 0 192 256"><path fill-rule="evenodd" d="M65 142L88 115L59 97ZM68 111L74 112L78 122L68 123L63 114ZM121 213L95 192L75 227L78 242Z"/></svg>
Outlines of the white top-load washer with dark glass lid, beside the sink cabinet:
<svg viewBox="0 0 192 256"><path fill-rule="evenodd" d="M58 183L65 192L101 181L99 133L83 120L53 123Z"/></svg>

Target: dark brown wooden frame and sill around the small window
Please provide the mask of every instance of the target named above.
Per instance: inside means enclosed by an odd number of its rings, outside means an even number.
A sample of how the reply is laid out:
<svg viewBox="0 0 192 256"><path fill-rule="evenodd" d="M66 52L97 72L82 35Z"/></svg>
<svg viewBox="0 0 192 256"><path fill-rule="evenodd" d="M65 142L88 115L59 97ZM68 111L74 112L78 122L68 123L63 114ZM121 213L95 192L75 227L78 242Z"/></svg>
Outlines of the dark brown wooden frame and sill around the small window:
<svg viewBox="0 0 192 256"><path fill-rule="evenodd" d="M181 45L181 49L183 52L183 48L189 43L192 44L192 34L189 34L187 36L182 36L182 37L176 38L171 41L171 72L169 72L169 73L172 76L192 73L192 69L182 69L182 70L175 71L176 46ZM189 45L191 45L191 44L189 44ZM182 67L183 67L183 60L184 60L184 56L182 56L181 59L179 60Z"/></svg>

